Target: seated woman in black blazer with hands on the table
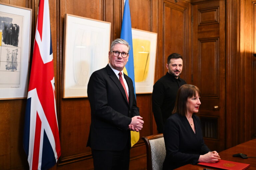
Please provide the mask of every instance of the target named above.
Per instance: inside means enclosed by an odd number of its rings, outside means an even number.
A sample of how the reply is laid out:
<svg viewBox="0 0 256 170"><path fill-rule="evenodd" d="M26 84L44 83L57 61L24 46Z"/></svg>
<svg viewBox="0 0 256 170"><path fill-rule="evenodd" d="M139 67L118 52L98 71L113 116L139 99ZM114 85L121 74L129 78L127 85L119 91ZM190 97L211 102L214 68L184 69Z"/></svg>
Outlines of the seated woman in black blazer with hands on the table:
<svg viewBox="0 0 256 170"><path fill-rule="evenodd" d="M201 104L200 91L196 86L182 85L177 94L173 114L164 126L166 157L163 169L175 169L197 162L217 162L216 151L205 145L199 117L195 115Z"/></svg>

